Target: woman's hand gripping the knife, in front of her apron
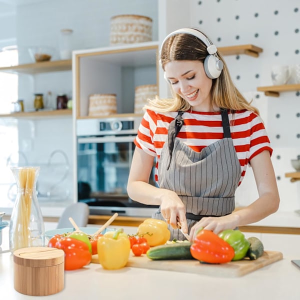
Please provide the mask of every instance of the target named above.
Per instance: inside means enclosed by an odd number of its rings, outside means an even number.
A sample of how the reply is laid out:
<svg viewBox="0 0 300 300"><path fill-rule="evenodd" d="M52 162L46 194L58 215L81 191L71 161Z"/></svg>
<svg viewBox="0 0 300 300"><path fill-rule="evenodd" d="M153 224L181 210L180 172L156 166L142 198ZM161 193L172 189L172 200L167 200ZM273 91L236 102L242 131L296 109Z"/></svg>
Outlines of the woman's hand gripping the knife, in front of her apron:
<svg viewBox="0 0 300 300"><path fill-rule="evenodd" d="M177 221L179 221L182 231L187 233L185 206L182 200L175 192L166 189L161 189L160 199L160 212L165 221L174 229L177 228Z"/></svg>

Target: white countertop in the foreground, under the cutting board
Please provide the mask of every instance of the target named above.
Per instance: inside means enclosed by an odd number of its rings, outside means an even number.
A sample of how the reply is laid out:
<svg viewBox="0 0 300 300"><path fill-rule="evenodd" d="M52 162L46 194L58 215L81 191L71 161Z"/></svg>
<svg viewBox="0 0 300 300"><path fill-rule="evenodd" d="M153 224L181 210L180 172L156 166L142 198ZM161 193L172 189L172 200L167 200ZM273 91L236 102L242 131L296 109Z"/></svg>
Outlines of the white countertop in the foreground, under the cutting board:
<svg viewBox="0 0 300 300"><path fill-rule="evenodd" d="M8 230L3 229L3 246L8 242ZM124 267L104 270L99 264L65 271L64 289L48 299L299 299L300 269L290 259L300 259L299 239L293 235L273 234L272 243L288 243L283 259L241 277L222 278L208 275L179 273ZM287 239L286 239L287 238ZM266 247L265 247L266 248ZM267 250L279 250L266 248ZM288 250L290 249L290 250ZM298 256L295 256L298 253ZM0 253L1 299L36 299L13 287L13 259L9 252Z"/></svg>

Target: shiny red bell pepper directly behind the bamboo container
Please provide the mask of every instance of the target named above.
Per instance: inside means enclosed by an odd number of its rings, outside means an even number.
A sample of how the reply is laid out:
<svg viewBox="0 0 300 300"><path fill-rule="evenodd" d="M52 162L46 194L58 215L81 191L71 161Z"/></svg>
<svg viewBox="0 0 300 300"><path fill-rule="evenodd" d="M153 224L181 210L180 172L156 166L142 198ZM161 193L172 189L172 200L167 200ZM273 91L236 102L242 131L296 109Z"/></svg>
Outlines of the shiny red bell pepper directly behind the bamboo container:
<svg viewBox="0 0 300 300"><path fill-rule="evenodd" d="M54 247L64 251L65 270L78 269L91 261L91 252L84 241L71 237L61 237Z"/></svg>

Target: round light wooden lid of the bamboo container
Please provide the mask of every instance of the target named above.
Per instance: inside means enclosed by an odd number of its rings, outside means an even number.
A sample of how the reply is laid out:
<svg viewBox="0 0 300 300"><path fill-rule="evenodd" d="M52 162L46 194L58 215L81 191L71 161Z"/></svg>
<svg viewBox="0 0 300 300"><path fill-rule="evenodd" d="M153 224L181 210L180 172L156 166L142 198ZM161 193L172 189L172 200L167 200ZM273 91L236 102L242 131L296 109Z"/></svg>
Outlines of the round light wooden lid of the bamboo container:
<svg viewBox="0 0 300 300"><path fill-rule="evenodd" d="M20 248L13 252L13 261L30 267L53 266L64 262L64 252L50 247Z"/></svg>

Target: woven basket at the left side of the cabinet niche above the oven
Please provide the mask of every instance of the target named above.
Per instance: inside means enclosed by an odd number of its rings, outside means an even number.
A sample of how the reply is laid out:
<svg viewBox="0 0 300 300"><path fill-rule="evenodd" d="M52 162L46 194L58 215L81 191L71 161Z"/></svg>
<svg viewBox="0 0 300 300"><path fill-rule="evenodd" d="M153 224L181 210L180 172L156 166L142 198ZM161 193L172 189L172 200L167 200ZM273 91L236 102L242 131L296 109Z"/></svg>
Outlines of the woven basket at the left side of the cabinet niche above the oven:
<svg viewBox="0 0 300 300"><path fill-rule="evenodd" d="M116 94L91 94L88 100L89 116L116 113Z"/></svg>

